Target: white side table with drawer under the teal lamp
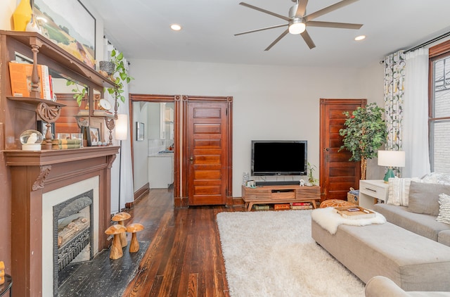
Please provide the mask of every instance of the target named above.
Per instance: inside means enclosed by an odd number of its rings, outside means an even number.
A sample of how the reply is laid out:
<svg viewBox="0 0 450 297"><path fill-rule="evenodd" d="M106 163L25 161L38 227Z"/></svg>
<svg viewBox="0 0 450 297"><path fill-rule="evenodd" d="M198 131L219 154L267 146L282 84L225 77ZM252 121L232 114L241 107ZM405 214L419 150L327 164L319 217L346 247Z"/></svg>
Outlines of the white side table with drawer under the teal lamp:
<svg viewBox="0 0 450 297"><path fill-rule="evenodd" d="M359 181L359 206L373 209L375 199L387 200L389 185L383 179L361 179Z"/></svg>

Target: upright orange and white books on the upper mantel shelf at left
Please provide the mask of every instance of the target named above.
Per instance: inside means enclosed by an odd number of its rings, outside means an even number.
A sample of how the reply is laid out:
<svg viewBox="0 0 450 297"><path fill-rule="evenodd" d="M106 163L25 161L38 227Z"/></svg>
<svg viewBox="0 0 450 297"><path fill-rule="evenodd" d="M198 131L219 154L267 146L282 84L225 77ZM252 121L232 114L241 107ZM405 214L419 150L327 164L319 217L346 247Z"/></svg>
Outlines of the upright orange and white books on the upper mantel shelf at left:
<svg viewBox="0 0 450 297"><path fill-rule="evenodd" d="M11 91L14 97L30 97L32 70L33 64L15 61L9 63ZM37 65L37 75L39 76L39 98L51 100L51 81L47 65Z"/></svg>

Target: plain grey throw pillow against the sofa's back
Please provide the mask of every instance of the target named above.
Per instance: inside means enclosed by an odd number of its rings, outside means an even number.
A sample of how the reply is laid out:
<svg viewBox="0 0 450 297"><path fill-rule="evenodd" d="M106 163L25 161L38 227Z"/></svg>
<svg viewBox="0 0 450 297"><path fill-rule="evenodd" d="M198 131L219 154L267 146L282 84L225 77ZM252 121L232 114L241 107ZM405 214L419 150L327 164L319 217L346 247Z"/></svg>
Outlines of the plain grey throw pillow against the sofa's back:
<svg viewBox="0 0 450 297"><path fill-rule="evenodd" d="M408 210L413 213L439 215L439 194L450 195L450 186L411 182L409 185Z"/></svg>

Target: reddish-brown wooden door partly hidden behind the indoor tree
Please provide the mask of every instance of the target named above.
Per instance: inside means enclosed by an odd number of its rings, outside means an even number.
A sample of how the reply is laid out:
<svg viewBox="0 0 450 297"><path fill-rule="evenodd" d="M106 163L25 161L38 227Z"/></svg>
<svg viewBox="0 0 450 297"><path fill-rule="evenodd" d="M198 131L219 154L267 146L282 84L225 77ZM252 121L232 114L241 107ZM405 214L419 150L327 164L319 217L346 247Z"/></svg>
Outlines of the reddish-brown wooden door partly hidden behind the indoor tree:
<svg viewBox="0 0 450 297"><path fill-rule="evenodd" d="M321 99L320 184L321 201L347 199L350 187L359 189L360 162L349 161L351 153L339 151L342 137L339 130L346 120L343 112L366 106L366 99Z"/></svg>

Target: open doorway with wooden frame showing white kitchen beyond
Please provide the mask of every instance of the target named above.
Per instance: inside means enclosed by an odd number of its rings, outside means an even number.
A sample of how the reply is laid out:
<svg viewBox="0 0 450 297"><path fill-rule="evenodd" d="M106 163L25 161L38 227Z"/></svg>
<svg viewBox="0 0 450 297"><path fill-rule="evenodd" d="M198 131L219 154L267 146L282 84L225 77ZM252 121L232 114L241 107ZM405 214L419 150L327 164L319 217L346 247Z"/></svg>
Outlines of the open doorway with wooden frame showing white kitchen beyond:
<svg viewBox="0 0 450 297"><path fill-rule="evenodd" d="M143 108L145 115L141 116ZM131 162L137 187L134 189L135 200L152 187L168 187L169 184L172 184L174 198L180 197L180 96L130 94L129 110L133 139ZM143 127L143 137L139 141L138 125ZM148 170L150 163L155 165L152 170L158 167L162 172Z"/></svg>

